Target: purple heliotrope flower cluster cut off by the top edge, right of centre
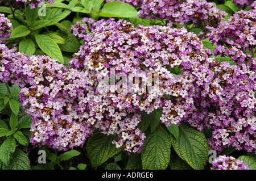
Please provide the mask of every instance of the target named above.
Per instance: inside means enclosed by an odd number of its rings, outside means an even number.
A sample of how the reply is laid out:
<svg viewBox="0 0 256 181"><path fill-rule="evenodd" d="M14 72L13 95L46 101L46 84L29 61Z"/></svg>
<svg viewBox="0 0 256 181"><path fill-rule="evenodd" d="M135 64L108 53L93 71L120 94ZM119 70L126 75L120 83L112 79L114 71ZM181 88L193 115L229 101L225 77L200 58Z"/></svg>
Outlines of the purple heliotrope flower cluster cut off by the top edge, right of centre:
<svg viewBox="0 0 256 181"><path fill-rule="evenodd" d="M174 27L178 23L192 22L204 30L207 25L217 27L218 24L224 23L227 14L205 0L144 0L139 15L147 19L166 19L168 25Z"/></svg>

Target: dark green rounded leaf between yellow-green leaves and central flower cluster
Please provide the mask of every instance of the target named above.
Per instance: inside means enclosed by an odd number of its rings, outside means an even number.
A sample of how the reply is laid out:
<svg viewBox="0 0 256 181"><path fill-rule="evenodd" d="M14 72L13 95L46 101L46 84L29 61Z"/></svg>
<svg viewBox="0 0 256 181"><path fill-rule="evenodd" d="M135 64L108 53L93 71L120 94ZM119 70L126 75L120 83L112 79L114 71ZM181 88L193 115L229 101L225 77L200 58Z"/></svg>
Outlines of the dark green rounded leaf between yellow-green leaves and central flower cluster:
<svg viewBox="0 0 256 181"><path fill-rule="evenodd" d="M68 32L68 35L66 35L64 32L60 32L60 36L63 37L65 40L64 44L60 44L59 47L64 52L71 52L75 53L78 52L80 43L79 40L77 40L76 36L72 33Z"/></svg>

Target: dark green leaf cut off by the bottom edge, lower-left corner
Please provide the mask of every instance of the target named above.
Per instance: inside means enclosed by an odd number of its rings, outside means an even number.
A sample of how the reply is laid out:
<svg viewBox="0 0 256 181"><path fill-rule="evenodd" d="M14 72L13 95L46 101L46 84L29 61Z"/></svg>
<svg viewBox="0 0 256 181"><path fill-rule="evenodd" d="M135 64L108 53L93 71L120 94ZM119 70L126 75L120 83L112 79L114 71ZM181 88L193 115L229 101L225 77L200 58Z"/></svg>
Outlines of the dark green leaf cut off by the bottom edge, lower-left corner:
<svg viewBox="0 0 256 181"><path fill-rule="evenodd" d="M4 167L6 170L30 170L30 159L20 149L15 149L13 158L10 160L10 163Z"/></svg>

